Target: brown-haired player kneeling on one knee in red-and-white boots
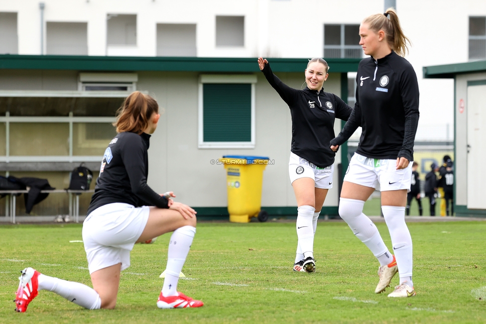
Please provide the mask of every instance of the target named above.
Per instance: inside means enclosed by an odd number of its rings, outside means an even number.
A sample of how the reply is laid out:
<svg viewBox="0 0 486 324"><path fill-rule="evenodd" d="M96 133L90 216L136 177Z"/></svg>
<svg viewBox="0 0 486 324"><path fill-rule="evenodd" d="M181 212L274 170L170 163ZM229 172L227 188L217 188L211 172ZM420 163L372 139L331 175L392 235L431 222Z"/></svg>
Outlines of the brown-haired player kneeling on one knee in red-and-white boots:
<svg viewBox="0 0 486 324"><path fill-rule="evenodd" d="M201 301L177 292L179 274L196 233L196 212L173 201L173 192L159 195L147 185L149 138L159 118L157 102L138 91L130 94L119 110L115 123L119 134L105 151L83 223L93 289L25 268L19 278L16 311L25 312L39 290L52 291L86 309L115 308L120 272L130 265L133 245L172 231L157 307L203 306Z"/></svg>

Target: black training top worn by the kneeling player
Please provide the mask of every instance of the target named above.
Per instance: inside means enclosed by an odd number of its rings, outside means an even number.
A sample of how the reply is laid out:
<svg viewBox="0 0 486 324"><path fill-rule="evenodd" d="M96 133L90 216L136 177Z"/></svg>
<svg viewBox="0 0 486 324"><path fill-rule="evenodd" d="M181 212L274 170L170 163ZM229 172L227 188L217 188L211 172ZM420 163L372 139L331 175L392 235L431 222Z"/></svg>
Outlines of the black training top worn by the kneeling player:
<svg viewBox="0 0 486 324"><path fill-rule="evenodd" d="M150 135L123 132L105 151L88 215L96 208L124 202L135 207L168 208L168 200L147 185Z"/></svg>

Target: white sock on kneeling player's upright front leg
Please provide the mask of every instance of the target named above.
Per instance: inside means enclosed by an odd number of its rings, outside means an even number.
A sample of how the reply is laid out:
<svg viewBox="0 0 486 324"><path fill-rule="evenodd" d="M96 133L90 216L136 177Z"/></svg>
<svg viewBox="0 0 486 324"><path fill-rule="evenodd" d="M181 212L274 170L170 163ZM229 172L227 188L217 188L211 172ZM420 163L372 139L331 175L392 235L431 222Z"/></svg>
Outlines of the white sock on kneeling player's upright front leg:
<svg viewBox="0 0 486 324"><path fill-rule="evenodd" d="M167 252L167 267L165 268L162 296L177 296L177 283L182 266L186 262L192 240L196 234L196 227L182 226L176 229L170 237L169 250Z"/></svg>

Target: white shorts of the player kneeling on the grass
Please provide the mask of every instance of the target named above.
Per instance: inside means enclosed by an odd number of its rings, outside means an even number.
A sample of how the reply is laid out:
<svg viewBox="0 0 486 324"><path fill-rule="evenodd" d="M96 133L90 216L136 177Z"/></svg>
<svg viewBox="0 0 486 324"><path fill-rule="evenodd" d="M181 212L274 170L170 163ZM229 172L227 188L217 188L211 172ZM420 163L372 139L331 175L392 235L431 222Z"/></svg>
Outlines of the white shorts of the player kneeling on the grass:
<svg viewBox="0 0 486 324"><path fill-rule="evenodd" d="M122 263L130 266L130 251L148 221L148 206L116 202L93 210L83 223L83 242L90 274Z"/></svg>

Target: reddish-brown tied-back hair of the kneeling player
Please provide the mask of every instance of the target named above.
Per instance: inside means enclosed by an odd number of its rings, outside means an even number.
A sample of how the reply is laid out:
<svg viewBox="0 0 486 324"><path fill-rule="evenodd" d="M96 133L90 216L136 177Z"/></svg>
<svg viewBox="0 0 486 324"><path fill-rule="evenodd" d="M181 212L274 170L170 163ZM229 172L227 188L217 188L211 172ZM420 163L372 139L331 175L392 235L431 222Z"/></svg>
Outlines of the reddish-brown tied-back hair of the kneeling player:
<svg viewBox="0 0 486 324"><path fill-rule="evenodd" d="M117 121L113 126L117 133L132 132L142 134L148 126L148 121L153 113L158 113L159 105L149 95L140 91L132 92L117 110Z"/></svg>

